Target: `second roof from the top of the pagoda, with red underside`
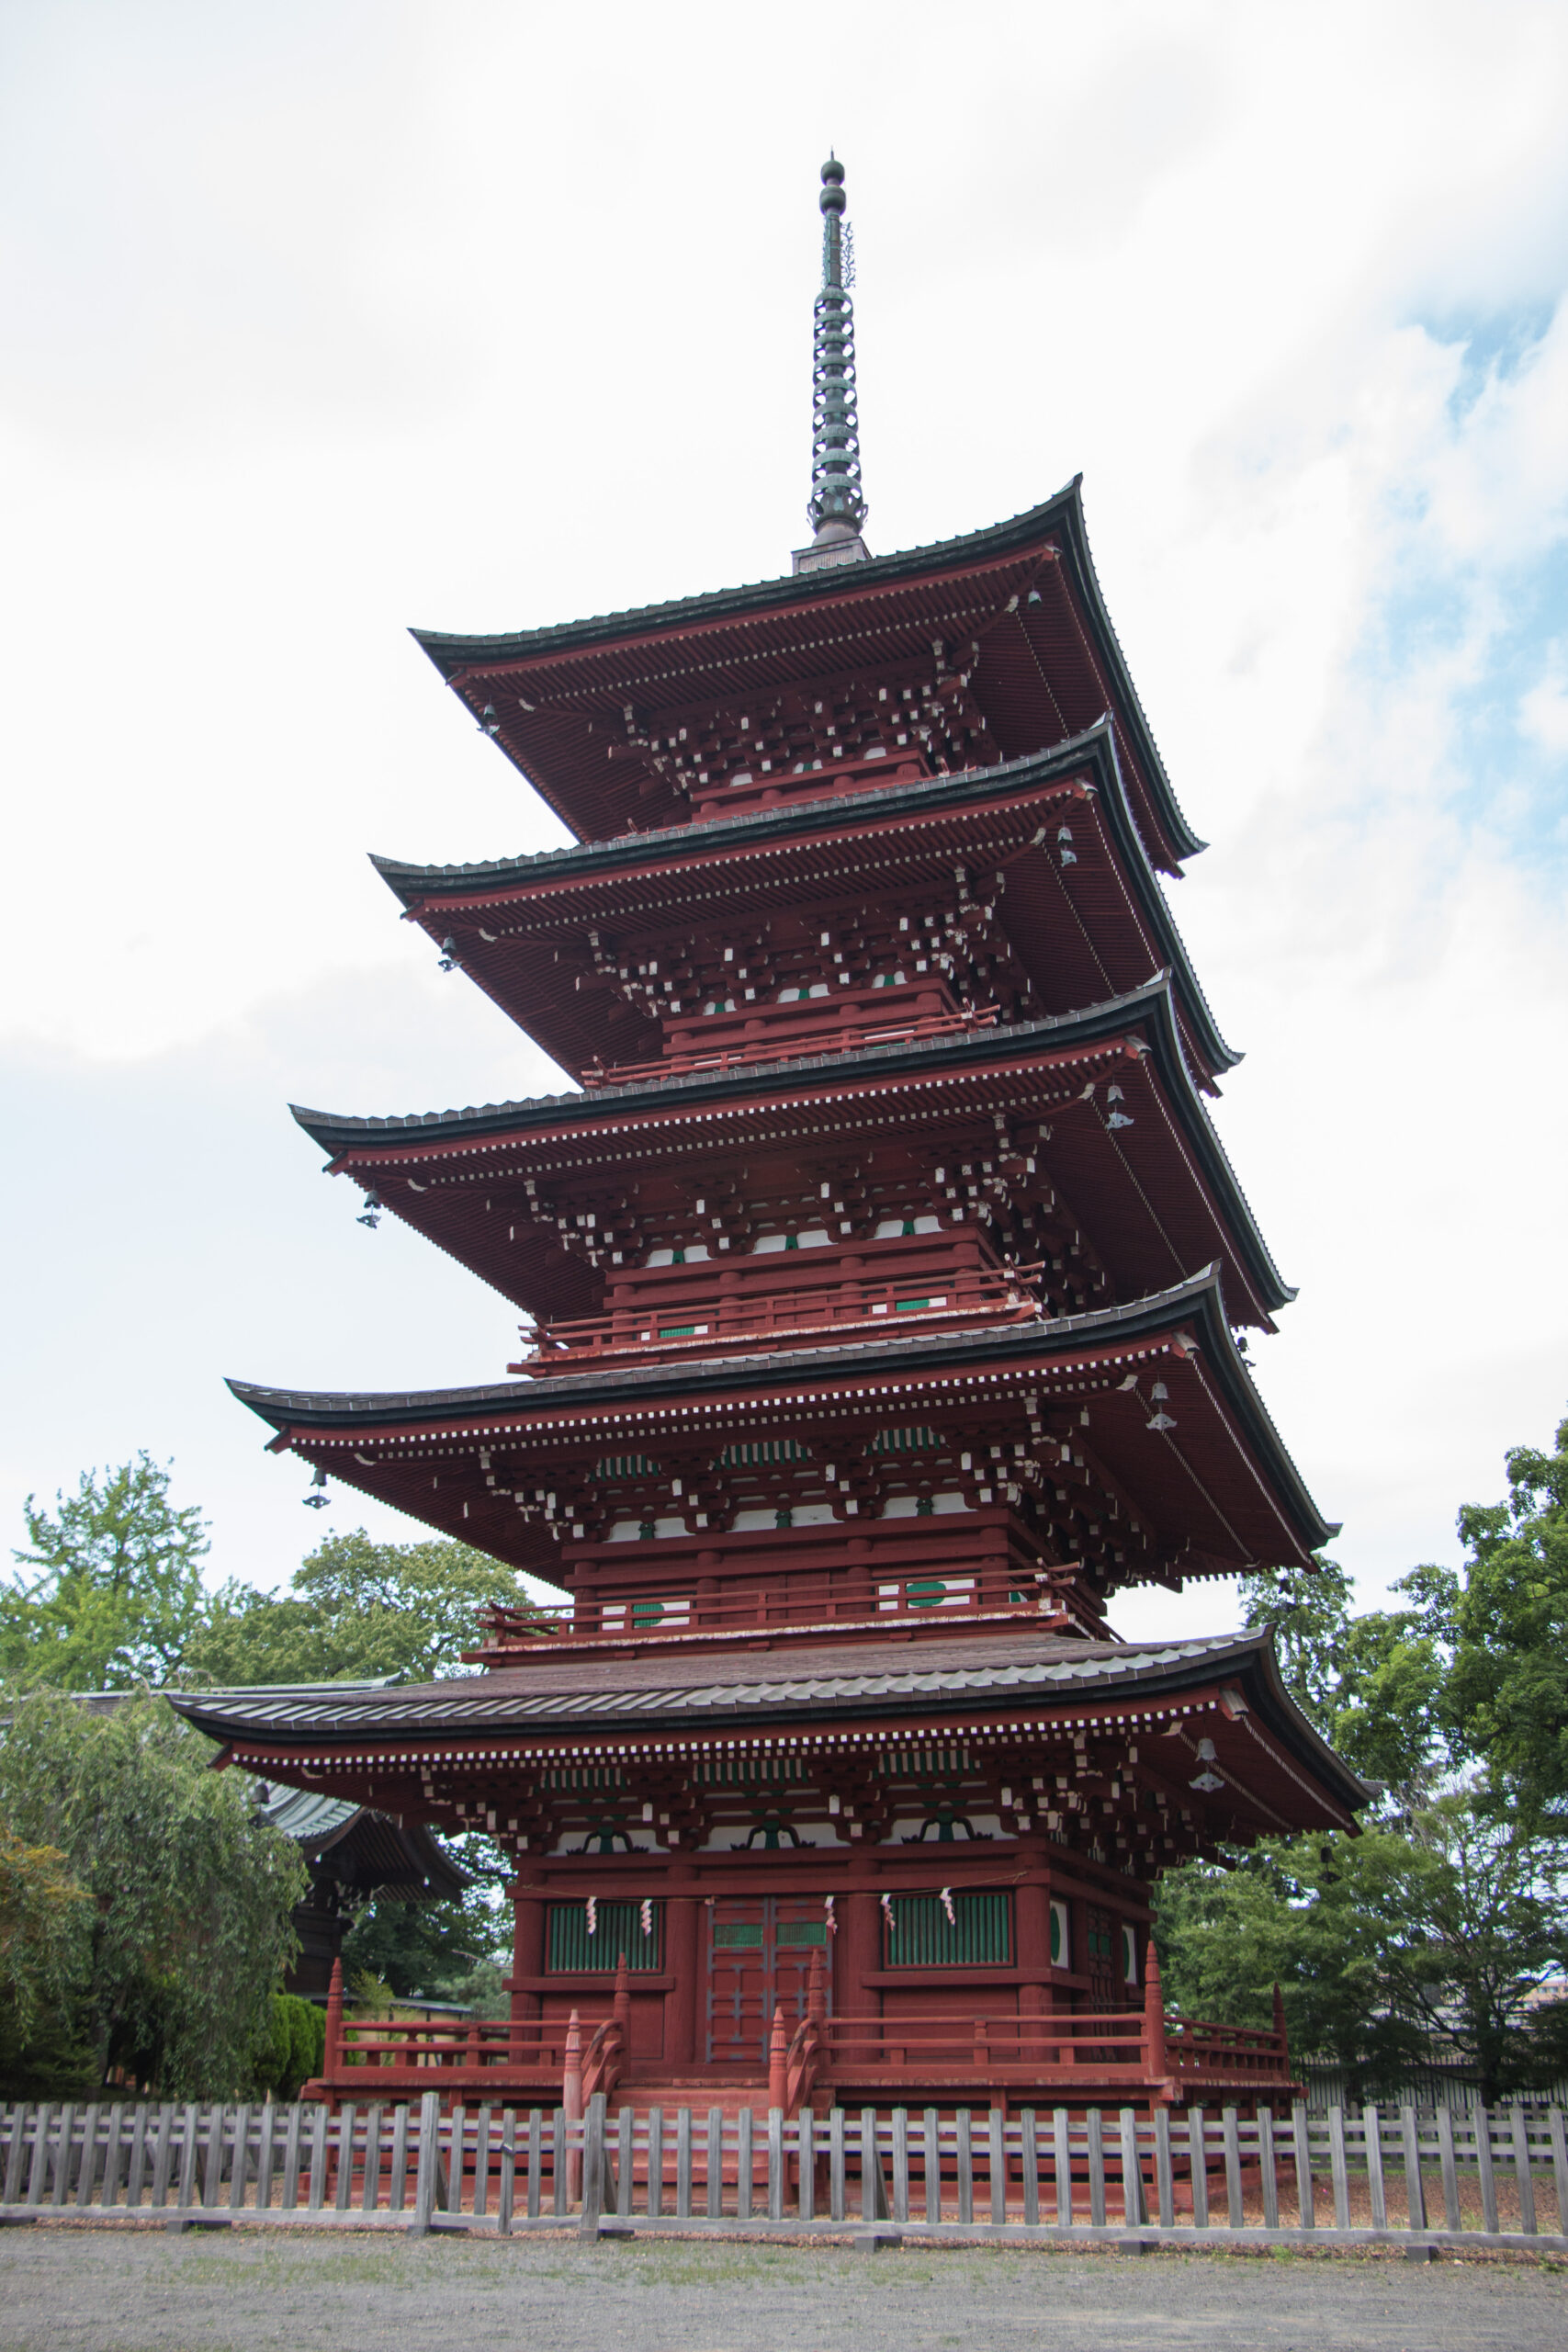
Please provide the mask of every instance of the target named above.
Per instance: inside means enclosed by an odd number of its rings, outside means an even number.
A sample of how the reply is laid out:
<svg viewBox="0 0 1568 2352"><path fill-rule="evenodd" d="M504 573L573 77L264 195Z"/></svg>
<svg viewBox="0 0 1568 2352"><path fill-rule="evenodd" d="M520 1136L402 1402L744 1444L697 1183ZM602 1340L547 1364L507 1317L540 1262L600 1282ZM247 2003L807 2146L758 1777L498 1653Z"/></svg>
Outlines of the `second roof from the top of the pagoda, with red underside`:
<svg viewBox="0 0 1568 2352"><path fill-rule="evenodd" d="M893 762L889 762L893 764ZM1067 826L1072 858L1058 847ZM632 1058L642 1021L599 978L590 941L675 927L696 903L708 929L849 891L976 887L1006 873L1001 929L1046 1011L1091 1004L1171 969L1199 1073L1234 1068L1150 866L1114 727L1098 720L1004 767L865 786L705 823L630 833L470 866L371 861L404 910L567 1070ZM701 894L696 901L691 894ZM642 1051L649 1051L644 1044Z"/></svg>

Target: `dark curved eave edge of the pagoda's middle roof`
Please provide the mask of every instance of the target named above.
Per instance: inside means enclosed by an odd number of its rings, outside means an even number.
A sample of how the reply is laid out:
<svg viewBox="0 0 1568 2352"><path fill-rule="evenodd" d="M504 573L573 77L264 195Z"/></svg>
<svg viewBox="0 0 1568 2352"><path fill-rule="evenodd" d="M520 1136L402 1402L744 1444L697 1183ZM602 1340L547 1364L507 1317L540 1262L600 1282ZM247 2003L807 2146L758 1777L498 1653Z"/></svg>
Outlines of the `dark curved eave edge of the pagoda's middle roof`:
<svg viewBox="0 0 1568 2352"><path fill-rule="evenodd" d="M790 1096L804 1087L863 1082L879 1075L893 1077L905 1070L931 1075L947 1068L985 1068L997 1061L1027 1058L1041 1049L1103 1042L1131 1030L1147 1035L1166 1098L1194 1150L1232 1247L1246 1263L1260 1305L1272 1315L1295 1298L1295 1289L1274 1265L1246 1192L1237 1183L1225 1145L1204 1108L1180 1044L1171 974L1166 971L1157 974L1143 988L1088 1007L1081 1014L1023 1021L1011 1028L976 1030L961 1037L931 1037L832 1056L802 1054L792 1061L752 1063L736 1073L691 1073L637 1087L599 1087L592 1094L548 1094L517 1103L487 1103L473 1110L428 1112L425 1117L334 1117L331 1112L306 1110L301 1105L292 1105L292 1115L329 1160L353 1157L355 1171L367 1174L367 1152L383 1152L388 1160L395 1160L407 1155L409 1148L428 1150L430 1145L480 1143L541 1127L597 1127L607 1117L670 1110L672 1105L750 1103L759 1096Z"/></svg>

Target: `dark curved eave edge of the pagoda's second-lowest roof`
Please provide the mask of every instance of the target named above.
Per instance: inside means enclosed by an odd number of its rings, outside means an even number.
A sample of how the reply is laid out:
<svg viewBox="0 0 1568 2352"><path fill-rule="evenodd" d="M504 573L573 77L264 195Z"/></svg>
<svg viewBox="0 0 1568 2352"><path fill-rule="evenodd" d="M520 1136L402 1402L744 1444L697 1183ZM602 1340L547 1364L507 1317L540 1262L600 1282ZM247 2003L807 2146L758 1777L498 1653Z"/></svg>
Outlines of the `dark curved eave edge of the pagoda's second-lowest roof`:
<svg viewBox="0 0 1568 2352"><path fill-rule="evenodd" d="M1253 1378L1237 1352L1220 1291L1220 1268L1208 1265L1190 1282L1091 1315L1060 1315L1006 1331L957 1334L952 1338L910 1336L851 1348L799 1348L717 1357L705 1362L649 1364L635 1371L578 1371L524 1383L505 1381L484 1388L437 1388L416 1392L308 1392L261 1388L252 1381L228 1381L240 1404L266 1421L287 1442L313 1430L367 1432L407 1423L461 1425L505 1418L508 1423L550 1416L569 1406L576 1416L614 1411L623 1404L656 1404L661 1397L693 1402L705 1395L762 1392L790 1383L830 1383L943 1374L952 1369L987 1369L1037 1362L1051 1355L1072 1357L1095 1345L1126 1348L1140 1338L1168 1336L1178 1327L1194 1329L1201 1364L1218 1383L1220 1397L1241 1428L1253 1458L1267 1472L1272 1491L1288 1508L1302 1550L1321 1550L1333 1526L1319 1512L1307 1484L1286 1454Z"/></svg>

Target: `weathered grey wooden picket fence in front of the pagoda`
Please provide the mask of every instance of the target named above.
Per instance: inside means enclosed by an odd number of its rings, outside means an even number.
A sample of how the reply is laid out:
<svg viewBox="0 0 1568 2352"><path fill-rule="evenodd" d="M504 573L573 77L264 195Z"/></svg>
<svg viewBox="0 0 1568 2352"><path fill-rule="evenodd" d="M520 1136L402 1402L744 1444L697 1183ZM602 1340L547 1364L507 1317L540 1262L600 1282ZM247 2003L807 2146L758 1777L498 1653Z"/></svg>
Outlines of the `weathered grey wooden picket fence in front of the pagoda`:
<svg viewBox="0 0 1568 2352"><path fill-rule="evenodd" d="M14 2105L0 2185L0 2223L1568 2251L1561 2107Z"/></svg>

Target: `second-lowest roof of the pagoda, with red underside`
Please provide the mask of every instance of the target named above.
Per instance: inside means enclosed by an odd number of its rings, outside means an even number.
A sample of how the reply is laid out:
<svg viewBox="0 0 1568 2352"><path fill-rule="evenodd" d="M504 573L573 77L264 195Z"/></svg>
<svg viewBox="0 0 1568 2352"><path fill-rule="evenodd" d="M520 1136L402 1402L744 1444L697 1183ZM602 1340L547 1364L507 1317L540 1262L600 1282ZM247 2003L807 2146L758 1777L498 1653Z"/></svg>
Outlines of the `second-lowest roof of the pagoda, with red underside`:
<svg viewBox="0 0 1568 2352"><path fill-rule="evenodd" d="M1154 1381L1161 1406L1150 1402ZM562 1573L559 1541L512 1498L531 1494L545 1465L567 1491L571 1479L592 1486L604 1456L715 1456L773 1432L844 1458L846 1432L870 1439L889 1421L938 1414L969 1416L1020 1449L1041 1416L1077 1428L1088 1414L1086 1444L1143 1526L1147 1566L1135 1552L1124 1581L1305 1564L1333 1536L1237 1352L1218 1268L1154 1298L999 1331L425 1392L230 1388L277 1430L275 1446L545 1576ZM505 1456L505 1479L491 1456Z"/></svg>

